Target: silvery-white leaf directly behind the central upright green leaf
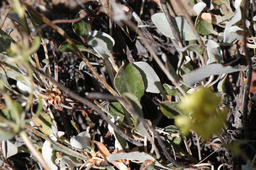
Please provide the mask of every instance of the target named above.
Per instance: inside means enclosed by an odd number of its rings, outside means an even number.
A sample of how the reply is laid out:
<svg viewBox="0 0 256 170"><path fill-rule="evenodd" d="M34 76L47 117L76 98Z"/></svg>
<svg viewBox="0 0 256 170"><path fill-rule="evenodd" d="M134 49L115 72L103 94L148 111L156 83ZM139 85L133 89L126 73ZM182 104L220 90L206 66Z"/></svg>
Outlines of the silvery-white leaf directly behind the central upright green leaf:
<svg viewBox="0 0 256 170"><path fill-rule="evenodd" d="M150 93L160 93L164 89L155 70L146 62L133 62L133 65L140 71L145 91Z"/></svg>

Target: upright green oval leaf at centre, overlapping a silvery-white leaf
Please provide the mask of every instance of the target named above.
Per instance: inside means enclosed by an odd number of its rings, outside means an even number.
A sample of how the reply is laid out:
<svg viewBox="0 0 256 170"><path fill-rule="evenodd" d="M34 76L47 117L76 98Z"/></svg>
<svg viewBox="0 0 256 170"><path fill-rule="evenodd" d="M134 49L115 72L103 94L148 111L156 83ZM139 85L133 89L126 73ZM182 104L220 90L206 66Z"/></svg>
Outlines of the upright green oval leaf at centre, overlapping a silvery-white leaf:
<svg viewBox="0 0 256 170"><path fill-rule="evenodd" d="M114 85L120 94L131 93L139 101L144 94L144 84L139 70L126 62L115 75Z"/></svg>

